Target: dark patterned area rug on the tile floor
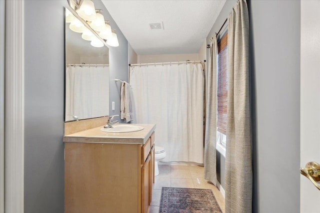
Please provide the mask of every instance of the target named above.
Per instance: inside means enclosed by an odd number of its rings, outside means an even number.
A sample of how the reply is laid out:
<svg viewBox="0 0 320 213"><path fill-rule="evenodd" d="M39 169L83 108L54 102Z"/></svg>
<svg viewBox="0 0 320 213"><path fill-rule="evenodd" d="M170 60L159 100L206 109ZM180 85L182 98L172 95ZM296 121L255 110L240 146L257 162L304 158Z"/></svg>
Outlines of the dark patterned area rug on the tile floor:
<svg viewBox="0 0 320 213"><path fill-rule="evenodd" d="M162 187L159 213L222 213L208 189Z"/></svg>

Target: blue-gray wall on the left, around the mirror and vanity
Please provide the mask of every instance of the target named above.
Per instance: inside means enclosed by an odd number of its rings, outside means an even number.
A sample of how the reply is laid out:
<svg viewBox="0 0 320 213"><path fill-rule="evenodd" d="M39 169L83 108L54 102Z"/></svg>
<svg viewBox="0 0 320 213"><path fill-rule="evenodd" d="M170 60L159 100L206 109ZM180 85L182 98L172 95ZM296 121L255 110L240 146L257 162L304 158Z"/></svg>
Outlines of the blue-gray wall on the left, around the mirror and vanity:
<svg viewBox="0 0 320 213"><path fill-rule="evenodd" d="M96 5L101 1L94 1ZM67 0L24 3L24 212L64 212L64 6ZM98 8L98 6L97 6ZM110 103L119 108L119 86L127 80L127 40L116 29L119 47L110 47ZM119 113L116 110L115 113Z"/></svg>

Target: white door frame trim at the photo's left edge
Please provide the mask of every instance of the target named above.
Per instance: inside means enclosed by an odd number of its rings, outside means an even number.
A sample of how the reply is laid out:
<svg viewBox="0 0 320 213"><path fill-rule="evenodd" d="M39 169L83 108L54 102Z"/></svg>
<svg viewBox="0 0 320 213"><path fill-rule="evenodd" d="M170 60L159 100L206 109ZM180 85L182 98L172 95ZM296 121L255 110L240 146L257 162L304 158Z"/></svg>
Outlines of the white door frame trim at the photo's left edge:
<svg viewBox="0 0 320 213"><path fill-rule="evenodd" d="M24 0L5 0L4 212L24 211Z"/></svg>

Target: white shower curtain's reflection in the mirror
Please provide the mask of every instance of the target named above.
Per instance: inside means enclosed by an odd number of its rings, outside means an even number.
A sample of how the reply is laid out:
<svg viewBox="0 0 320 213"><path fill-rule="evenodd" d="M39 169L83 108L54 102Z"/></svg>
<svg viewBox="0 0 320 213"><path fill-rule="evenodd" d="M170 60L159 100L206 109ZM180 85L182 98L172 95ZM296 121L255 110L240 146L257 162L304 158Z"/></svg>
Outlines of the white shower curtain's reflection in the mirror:
<svg viewBox="0 0 320 213"><path fill-rule="evenodd" d="M65 121L109 113L109 67L68 66L65 70Z"/></svg>

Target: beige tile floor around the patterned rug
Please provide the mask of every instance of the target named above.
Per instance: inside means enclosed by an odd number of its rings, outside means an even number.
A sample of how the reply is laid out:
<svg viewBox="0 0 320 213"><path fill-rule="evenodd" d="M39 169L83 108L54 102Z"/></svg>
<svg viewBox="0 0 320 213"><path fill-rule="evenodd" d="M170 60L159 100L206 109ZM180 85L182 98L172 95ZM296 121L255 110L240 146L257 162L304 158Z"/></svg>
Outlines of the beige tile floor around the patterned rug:
<svg viewBox="0 0 320 213"><path fill-rule="evenodd" d="M150 213L158 213L162 187L210 189L224 213L224 198L220 191L203 179L203 166L158 165L159 175L155 176Z"/></svg>

